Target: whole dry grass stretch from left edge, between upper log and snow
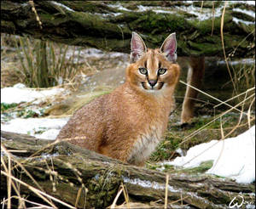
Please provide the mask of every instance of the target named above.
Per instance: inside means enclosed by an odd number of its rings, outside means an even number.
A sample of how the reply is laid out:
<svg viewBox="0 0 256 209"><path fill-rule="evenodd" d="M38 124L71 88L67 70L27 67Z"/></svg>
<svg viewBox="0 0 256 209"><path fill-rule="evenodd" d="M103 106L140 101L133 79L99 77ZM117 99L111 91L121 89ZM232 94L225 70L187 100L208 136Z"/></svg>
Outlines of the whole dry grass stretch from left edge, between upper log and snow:
<svg viewBox="0 0 256 209"><path fill-rule="evenodd" d="M82 73L81 48L28 37L1 37L2 88L17 82L30 88L48 88L74 82L76 75Z"/></svg>

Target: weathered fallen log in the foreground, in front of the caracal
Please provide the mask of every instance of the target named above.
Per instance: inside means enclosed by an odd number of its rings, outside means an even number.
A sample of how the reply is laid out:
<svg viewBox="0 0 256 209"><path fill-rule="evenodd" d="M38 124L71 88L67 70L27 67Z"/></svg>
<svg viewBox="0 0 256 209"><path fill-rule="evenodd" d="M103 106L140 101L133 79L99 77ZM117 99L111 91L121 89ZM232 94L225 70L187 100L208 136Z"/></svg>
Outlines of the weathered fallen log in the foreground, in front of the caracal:
<svg viewBox="0 0 256 209"><path fill-rule="evenodd" d="M26 134L1 132L1 143L12 153L12 175L26 184L37 187L24 172L24 168L48 195L77 208L110 206L120 185L124 185L131 201L140 207L163 207L166 197L166 173L134 167L120 161L83 150L67 142L33 138ZM52 145L49 145L52 144ZM6 172L8 155L2 150L1 170ZM20 162L24 168L17 166ZM1 172L1 199L7 198L7 178ZM15 182L15 180L14 180ZM168 208L225 208L237 195L244 202L255 201L252 184L236 184L234 181L211 176L191 176L169 173L167 186ZM20 194L28 200L44 202L20 185ZM12 191L15 195L15 191ZM119 197L119 204L124 201ZM58 205L53 201L55 206ZM14 203L15 204L15 203ZM143 204L143 205L142 205ZM252 203L253 204L253 203ZM246 205L244 205L246 206ZM61 206L62 208L63 206Z"/></svg>

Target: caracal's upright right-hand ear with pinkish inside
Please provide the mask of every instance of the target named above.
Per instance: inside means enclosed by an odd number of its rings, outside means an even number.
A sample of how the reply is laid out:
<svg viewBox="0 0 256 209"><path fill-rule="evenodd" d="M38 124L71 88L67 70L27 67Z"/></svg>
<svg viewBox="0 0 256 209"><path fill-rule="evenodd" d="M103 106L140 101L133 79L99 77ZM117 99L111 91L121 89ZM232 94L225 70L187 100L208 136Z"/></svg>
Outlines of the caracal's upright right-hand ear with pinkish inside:
<svg viewBox="0 0 256 209"><path fill-rule="evenodd" d="M169 37L166 37L166 40L163 42L160 47L160 53L164 53L166 55L166 59L170 62L176 62L177 59L177 41L176 41L176 33L173 32Z"/></svg>

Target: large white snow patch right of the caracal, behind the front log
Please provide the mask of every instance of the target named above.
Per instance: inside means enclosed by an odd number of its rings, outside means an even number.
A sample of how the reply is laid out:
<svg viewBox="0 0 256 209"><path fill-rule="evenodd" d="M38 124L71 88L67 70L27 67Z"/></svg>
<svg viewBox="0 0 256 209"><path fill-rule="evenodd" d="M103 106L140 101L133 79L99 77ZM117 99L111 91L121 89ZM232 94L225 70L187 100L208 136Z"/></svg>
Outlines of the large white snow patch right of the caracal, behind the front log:
<svg viewBox="0 0 256 209"><path fill-rule="evenodd" d="M207 173L233 178L237 183L252 183L255 180L255 126L235 138L196 145L186 156L163 164L198 167L201 162L210 160L213 166Z"/></svg>

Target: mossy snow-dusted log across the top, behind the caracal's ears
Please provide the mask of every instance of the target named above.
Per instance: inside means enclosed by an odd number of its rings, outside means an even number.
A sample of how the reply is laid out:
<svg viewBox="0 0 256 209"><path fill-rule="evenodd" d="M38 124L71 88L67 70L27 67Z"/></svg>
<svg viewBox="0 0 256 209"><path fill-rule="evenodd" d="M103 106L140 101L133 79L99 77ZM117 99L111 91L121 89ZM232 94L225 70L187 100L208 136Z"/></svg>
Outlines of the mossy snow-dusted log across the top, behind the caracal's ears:
<svg viewBox="0 0 256 209"><path fill-rule="evenodd" d="M140 33L150 48L159 48L175 31L179 56L223 56L223 8L224 1L1 1L1 32L130 53L131 31ZM224 46L226 54L244 58L254 54L255 18L242 9L255 13L255 6L247 4L225 8Z"/></svg>

